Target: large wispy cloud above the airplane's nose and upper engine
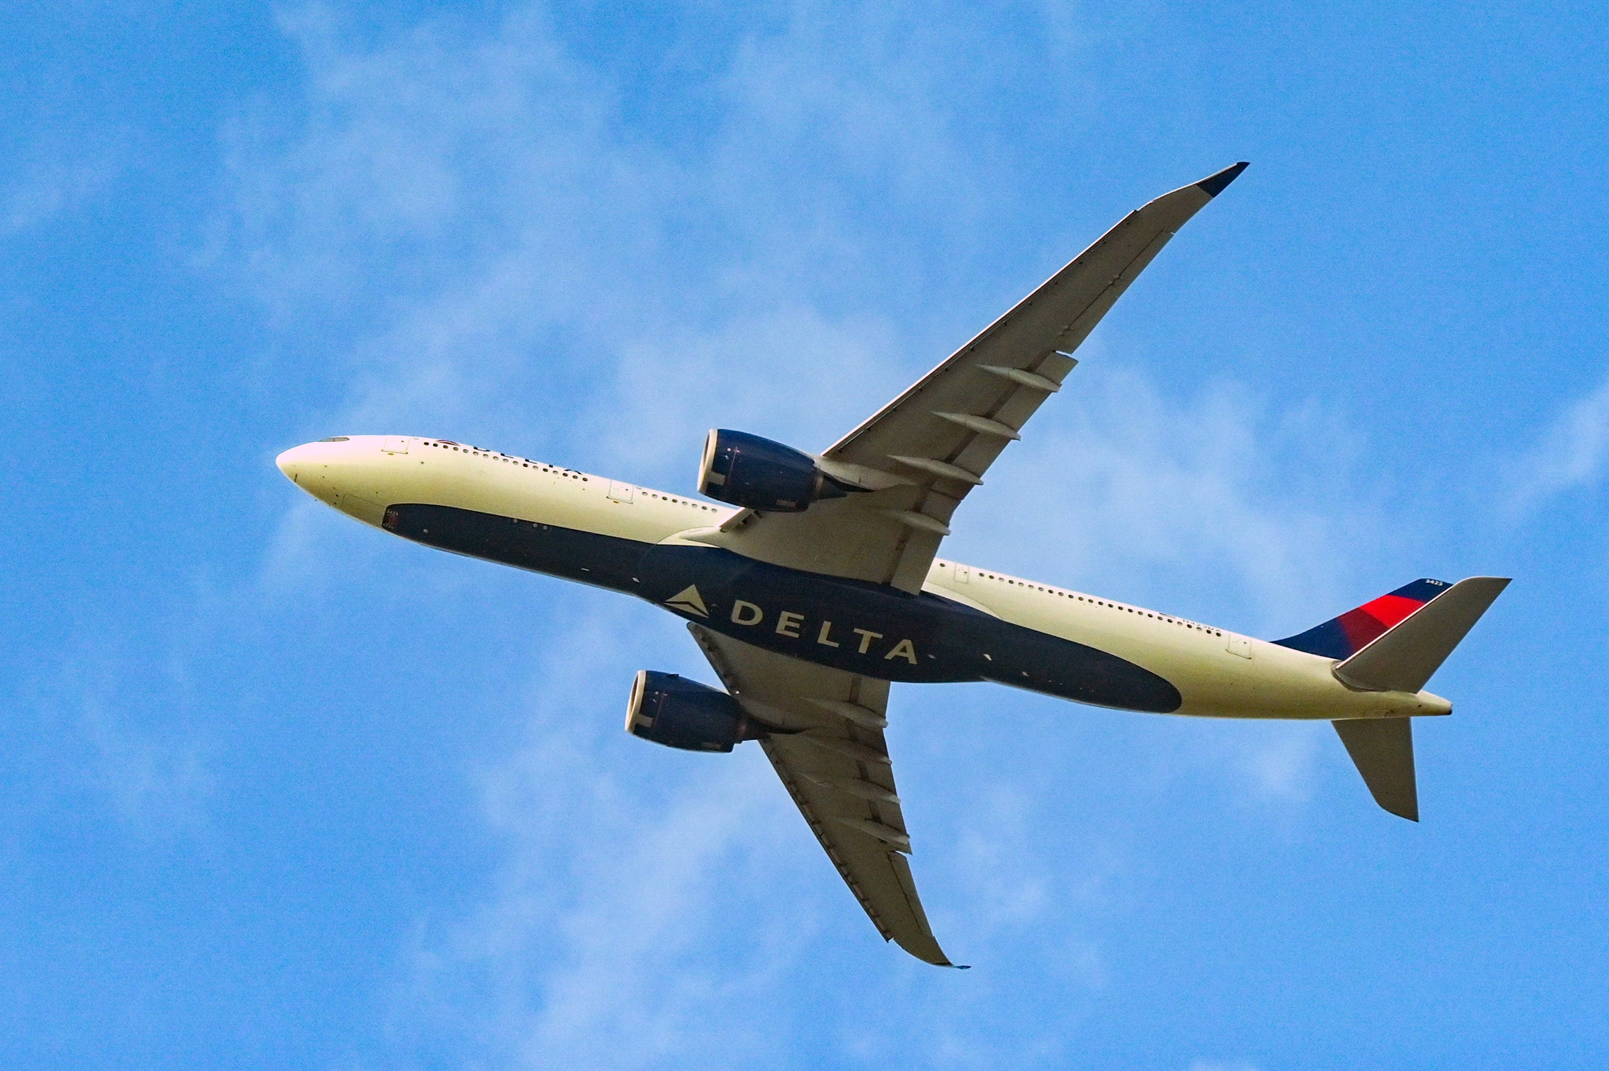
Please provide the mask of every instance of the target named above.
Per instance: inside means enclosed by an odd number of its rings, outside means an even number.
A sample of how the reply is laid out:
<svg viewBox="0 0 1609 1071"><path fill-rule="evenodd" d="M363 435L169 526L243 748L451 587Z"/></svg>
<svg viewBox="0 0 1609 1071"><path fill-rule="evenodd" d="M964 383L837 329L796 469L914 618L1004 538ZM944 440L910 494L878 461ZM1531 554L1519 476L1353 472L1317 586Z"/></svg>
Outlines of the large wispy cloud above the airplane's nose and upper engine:
<svg viewBox="0 0 1609 1071"><path fill-rule="evenodd" d="M906 294L924 273L877 232L956 233L1009 183L904 50L911 19L858 11L864 32L833 21L825 51L809 13L734 39L710 76L714 133L682 145L634 125L539 5L491 34L441 19L370 50L299 10L285 26L311 68L306 122L232 127L211 256L280 314L338 322L344 418L529 437L563 428L550 399L618 404L652 363L697 368L710 399L803 404L819 426L793 425L824 445L848 429L833 402L880 404L864 383L895 391L898 368L933 360L845 291L870 277ZM644 408L653 426L671 410ZM542 434L529 449L570 437Z"/></svg>

